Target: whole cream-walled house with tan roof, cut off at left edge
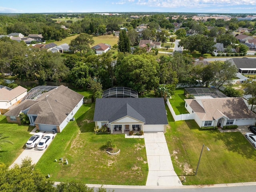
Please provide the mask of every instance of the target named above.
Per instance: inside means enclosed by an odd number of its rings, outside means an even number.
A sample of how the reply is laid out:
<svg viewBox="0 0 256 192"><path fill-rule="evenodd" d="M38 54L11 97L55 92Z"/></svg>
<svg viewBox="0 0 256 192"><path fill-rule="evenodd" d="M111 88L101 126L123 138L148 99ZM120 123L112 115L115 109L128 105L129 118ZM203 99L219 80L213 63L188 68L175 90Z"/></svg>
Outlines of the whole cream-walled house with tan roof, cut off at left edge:
<svg viewBox="0 0 256 192"><path fill-rule="evenodd" d="M27 89L22 86L11 89L0 85L0 114L6 113L18 105L26 94Z"/></svg>

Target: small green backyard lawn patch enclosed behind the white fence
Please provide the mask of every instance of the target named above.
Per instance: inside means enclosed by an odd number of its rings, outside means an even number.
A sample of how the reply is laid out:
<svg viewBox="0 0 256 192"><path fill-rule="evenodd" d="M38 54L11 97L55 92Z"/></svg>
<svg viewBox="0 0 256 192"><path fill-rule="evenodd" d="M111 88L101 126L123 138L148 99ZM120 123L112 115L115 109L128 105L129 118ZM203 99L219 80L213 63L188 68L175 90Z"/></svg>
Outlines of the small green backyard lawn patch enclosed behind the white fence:
<svg viewBox="0 0 256 192"><path fill-rule="evenodd" d="M184 99L186 99L184 95L184 89L176 89L172 98L169 99L170 104L172 105L172 108L176 115L188 113L185 108Z"/></svg>

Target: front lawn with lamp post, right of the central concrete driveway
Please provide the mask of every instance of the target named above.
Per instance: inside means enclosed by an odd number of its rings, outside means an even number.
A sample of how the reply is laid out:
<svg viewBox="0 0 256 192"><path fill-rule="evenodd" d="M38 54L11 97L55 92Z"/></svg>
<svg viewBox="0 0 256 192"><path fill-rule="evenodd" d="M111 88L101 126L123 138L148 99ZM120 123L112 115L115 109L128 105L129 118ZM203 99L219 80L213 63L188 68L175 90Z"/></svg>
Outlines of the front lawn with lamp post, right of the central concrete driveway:
<svg viewBox="0 0 256 192"><path fill-rule="evenodd" d="M166 142L175 172L186 177L183 184L256 182L256 150L240 132L200 131L194 120L174 122L169 110L168 121ZM203 144L210 151L204 148L195 176Z"/></svg>

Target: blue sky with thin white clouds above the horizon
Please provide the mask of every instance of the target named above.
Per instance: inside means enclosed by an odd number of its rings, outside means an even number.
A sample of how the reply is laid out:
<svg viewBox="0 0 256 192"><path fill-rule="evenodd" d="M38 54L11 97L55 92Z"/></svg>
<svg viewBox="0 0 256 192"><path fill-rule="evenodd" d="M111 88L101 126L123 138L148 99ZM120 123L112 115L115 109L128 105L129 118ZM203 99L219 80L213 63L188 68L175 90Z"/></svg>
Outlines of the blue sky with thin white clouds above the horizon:
<svg viewBox="0 0 256 192"><path fill-rule="evenodd" d="M255 13L256 0L1 0L0 13Z"/></svg>

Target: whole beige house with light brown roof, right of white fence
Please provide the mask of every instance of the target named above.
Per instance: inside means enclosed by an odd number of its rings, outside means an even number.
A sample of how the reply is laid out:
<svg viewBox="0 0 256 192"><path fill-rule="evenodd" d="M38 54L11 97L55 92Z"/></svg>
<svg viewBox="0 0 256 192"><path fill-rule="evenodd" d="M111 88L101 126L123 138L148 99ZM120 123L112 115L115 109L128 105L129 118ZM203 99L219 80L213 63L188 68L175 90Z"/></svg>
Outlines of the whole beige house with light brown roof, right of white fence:
<svg viewBox="0 0 256 192"><path fill-rule="evenodd" d="M185 99L185 108L190 114L195 114L194 120L200 127L256 123L256 114L248 109L241 97Z"/></svg>

